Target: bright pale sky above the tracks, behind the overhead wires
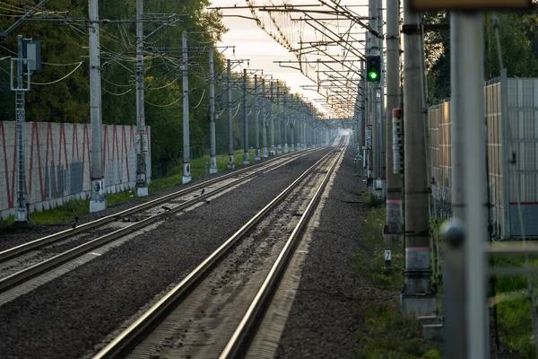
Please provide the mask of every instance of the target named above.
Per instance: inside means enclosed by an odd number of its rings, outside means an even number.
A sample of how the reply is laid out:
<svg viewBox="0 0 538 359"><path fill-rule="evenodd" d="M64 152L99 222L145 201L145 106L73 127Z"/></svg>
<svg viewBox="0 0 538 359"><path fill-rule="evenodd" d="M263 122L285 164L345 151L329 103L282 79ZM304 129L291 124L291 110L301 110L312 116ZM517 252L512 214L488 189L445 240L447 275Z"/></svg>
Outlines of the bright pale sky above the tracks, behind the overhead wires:
<svg viewBox="0 0 538 359"><path fill-rule="evenodd" d="M317 4L317 0L273 0L273 4ZM256 4L271 4L270 0L255 1ZM367 0L347 0L341 4L368 4ZM213 0L213 6L247 6L245 0ZM361 13L368 11L367 8ZM285 81L291 88L291 92L299 92L309 100L321 99L322 97L317 92L311 89L303 89L300 85L314 85L307 77L300 74L299 70L291 68L283 68L273 61L296 61L297 58L283 48L280 44L274 41L265 31L261 30L254 20L247 20L239 17L231 17L230 15L251 16L248 9L244 10L223 10L223 22L228 27L229 31L223 36L219 46L235 46L235 57L231 50L227 50L224 54L227 58L249 59L249 66L253 69L264 69L265 74L273 74L273 78L278 78ZM323 109L317 102L317 108Z"/></svg>

